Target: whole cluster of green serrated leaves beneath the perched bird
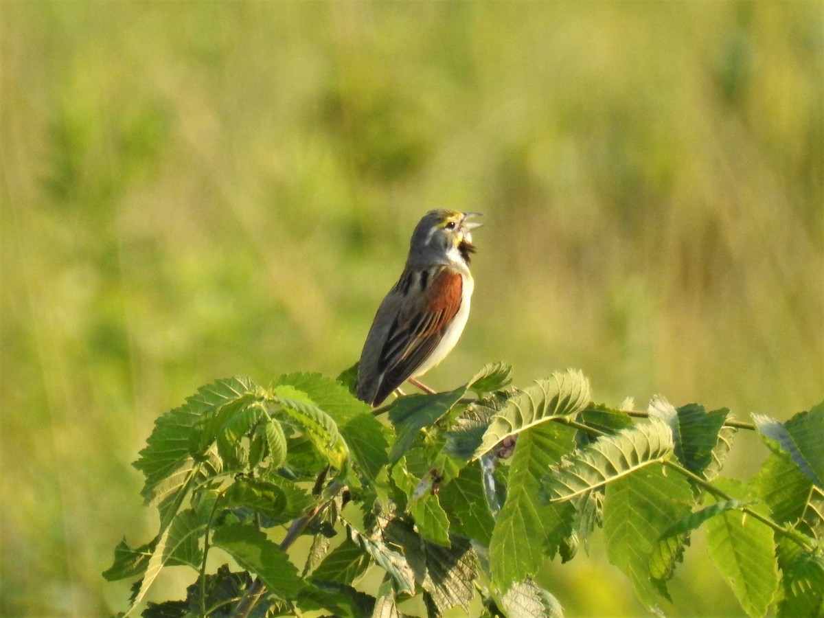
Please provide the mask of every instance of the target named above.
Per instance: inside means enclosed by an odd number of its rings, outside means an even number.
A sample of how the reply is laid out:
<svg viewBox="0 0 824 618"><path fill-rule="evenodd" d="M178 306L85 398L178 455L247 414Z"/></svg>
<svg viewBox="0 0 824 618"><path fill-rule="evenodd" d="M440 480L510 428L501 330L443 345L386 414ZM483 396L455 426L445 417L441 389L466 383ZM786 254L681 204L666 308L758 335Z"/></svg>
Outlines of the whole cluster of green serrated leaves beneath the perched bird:
<svg viewBox="0 0 824 618"><path fill-rule="evenodd" d="M720 476L748 426L725 409L660 396L643 413L611 408L580 372L516 388L495 363L372 410L354 375L221 380L157 419L134 464L157 535L122 541L104 573L136 580L125 614L184 566L186 598L143 616L403 616L414 597L428 616L563 616L533 577L597 528L662 611L700 527L748 615L824 611L824 404L783 424L754 416L770 455L745 483Z"/></svg>

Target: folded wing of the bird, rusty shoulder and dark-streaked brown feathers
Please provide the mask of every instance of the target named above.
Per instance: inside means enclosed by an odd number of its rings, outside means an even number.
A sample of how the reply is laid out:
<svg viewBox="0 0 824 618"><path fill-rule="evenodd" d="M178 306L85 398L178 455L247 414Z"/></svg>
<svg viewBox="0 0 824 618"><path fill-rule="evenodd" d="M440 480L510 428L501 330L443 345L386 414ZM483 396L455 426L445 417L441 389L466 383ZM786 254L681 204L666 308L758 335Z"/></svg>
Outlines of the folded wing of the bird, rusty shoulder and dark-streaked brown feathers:
<svg viewBox="0 0 824 618"><path fill-rule="evenodd" d="M447 266L425 272L411 285L401 277L399 283L406 284L394 290L404 297L377 361L377 374L382 377L376 403L386 399L433 353L461 307L463 278L459 272Z"/></svg>

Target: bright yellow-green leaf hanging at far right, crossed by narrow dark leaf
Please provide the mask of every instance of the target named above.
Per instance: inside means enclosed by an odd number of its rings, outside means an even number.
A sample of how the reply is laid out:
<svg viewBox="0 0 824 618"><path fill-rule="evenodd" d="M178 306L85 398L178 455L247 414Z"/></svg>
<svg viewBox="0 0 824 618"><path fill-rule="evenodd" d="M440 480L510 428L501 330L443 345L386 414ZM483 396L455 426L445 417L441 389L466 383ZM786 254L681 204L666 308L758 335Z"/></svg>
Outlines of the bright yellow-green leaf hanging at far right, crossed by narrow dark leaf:
<svg viewBox="0 0 824 618"><path fill-rule="evenodd" d="M737 481L717 479L715 485L734 498L753 499L747 485ZM715 569L749 616L764 616L778 588L773 531L737 511L707 520L706 527L707 550Z"/></svg>

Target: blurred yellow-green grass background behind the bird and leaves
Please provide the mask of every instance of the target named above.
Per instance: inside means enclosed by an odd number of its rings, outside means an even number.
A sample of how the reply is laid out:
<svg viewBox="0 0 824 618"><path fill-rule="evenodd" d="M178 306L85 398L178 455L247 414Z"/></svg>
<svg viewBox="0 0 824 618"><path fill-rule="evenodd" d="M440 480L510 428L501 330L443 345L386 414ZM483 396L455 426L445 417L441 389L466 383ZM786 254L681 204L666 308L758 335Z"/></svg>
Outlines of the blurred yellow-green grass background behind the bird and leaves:
<svg viewBox="0 0 824 618"><path fill-rule="evenodd" d="M349 367L430 208L485 213L433 386L824 399L821 2L4 0L0 46L2 616L123 609L154 419ZM665 609L740 615L695 545ZM541 581L644 613L597 540Z"/></svg>

